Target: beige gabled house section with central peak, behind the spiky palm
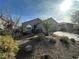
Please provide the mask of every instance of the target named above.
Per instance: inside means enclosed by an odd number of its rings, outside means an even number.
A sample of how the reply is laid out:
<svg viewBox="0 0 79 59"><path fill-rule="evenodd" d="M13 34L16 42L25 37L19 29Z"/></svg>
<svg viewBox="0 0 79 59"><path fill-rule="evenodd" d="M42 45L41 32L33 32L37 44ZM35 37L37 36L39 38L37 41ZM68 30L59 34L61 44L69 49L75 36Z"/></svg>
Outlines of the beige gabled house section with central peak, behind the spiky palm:
<svg viewBox="0 0 79 59"><path fill-rule="evenodd" d="M48 23L47 25L48 25L48 32L49 33L57 31L58 23L52 17L50 17L46 20L43 20L42 23L40 23L38 26L38 27L42 27L43 32L46 32L46 29L45 29L44 24L43 24L45 22Z"/></svg>

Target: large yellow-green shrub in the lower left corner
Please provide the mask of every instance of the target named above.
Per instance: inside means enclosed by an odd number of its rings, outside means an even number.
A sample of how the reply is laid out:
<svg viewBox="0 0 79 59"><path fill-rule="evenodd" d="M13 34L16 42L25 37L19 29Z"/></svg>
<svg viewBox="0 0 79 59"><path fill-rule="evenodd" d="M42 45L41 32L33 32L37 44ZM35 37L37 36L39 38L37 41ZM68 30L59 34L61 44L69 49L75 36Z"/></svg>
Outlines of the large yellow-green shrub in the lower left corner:
<svg viewBox="0 0 79 59"><path fill-rule="evenodd" d="M0 36L0 59L12 59L19 48L11 36Z"/></svg>

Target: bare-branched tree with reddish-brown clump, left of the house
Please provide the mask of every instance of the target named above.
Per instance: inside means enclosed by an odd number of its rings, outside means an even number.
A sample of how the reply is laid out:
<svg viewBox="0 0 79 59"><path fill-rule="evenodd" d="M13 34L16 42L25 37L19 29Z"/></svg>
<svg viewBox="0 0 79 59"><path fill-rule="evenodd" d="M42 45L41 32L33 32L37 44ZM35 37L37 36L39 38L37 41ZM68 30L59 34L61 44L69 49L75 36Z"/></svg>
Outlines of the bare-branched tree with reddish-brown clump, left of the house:
<svg viewBox="0 0 79 59"><path fill-rule="evenodd" d="M13 27L16 28L18 26L20 17L16 17L16 19L12 18L11 15L5 15L3 12L0 12L0 20L4 21L5 23L3 24L5 30L12 32ZM16 20L16 21L14 21Z"/></svg>

